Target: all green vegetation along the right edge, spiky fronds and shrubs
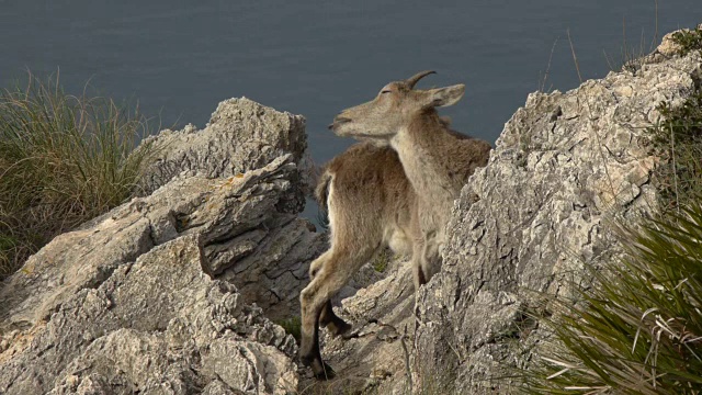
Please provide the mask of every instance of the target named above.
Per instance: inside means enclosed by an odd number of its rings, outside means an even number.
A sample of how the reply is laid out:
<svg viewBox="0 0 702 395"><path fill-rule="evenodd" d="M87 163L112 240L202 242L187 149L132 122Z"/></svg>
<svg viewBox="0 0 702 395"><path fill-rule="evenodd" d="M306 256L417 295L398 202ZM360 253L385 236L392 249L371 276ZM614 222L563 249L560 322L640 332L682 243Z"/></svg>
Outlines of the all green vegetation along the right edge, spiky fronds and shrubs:
<svg viewBox="0 0 702 395"><path fill-rule="evenodd" d="M702 50L702 29L672 35L680 55ZM541 321L554 349L526 373L531 394L702 393L702 89L661 103L647 129L660 158L658 218L615 226L621 260L589 268L576 308Z"/></svg>

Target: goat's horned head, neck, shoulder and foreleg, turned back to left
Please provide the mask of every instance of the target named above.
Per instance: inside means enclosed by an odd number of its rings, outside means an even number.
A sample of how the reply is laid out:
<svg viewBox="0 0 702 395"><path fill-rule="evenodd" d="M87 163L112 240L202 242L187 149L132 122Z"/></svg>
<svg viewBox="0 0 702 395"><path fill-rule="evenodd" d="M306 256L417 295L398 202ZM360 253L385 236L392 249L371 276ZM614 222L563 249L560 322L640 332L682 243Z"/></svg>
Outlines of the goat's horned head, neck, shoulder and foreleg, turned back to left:
<svg viewBox="0 0 702 395"><path fill-rule="evenodd" d="M339 136L375 140L397 151L418 199L423 251L412 259L420 260L415 263L422 269L419 285L438 270L453 202L475 169L487 165L491 149L487 142L452 131L437 112L461 100L464 84L415 89L431 74L386 84L374 100L343 110L329 126Z"/></svg>

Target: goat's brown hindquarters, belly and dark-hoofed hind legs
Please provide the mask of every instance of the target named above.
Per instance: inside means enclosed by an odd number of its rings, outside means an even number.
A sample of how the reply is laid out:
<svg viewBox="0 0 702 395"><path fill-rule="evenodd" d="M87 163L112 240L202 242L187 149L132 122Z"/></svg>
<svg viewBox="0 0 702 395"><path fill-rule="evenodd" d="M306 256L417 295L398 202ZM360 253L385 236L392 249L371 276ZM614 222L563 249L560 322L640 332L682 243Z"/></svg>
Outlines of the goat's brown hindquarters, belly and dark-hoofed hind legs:
<svg viewBox="0 0 702 395"><path fill-rule="evenodd" d="M317 379L330 379L335 373L321 360L318 325L333 336L351 326L335 315L329 300L381 248L401 255L420 251L421 234L415 190L388 146L360 143L333 158L316 196L329 217L330 248L309 266L312 281L301 293L299 357Z"/></svg>

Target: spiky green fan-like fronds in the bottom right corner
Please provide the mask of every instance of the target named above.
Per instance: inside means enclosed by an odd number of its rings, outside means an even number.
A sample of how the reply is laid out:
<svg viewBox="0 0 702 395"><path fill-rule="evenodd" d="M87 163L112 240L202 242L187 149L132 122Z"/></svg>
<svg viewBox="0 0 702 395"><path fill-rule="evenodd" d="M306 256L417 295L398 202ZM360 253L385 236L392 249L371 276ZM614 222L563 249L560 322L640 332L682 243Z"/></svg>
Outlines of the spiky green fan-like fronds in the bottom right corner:
<svg viewBox="0 0 702 395"><path fill-rule="evenodd" d="M525 393L702 393L702 208L669 215L620 227L625 257L590 268L582 303L542 319L557 346Z"/></svg>

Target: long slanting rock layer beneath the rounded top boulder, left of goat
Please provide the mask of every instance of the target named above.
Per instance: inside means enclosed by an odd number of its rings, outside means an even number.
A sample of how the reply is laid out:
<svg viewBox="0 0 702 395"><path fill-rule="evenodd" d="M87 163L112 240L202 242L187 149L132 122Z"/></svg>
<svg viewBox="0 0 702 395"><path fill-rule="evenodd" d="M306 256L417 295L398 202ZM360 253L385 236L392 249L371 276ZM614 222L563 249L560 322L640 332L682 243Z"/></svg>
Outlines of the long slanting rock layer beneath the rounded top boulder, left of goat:
<svg viewBox="0 0 702 395"><path fill-rule="evenodd" d="M276 210L281 195L293 188L291 159L278 158L242 177L178 178L113 210L93 227L58 236L0 289L5 301L0 329L26 329L47 319L77 291L95 287L115 268L190 234L201 235L206 272L236 272L225 276L241 286L250 303L270 307L275 319L295 314L306 268L325 241L309 232L305 219ZM252 233L260 236L248 250L220 253L222 245Z"/></svg>

